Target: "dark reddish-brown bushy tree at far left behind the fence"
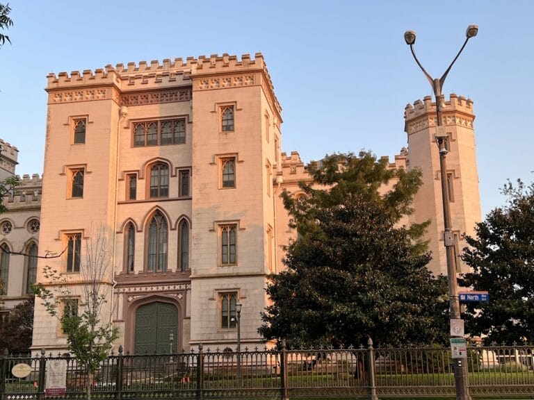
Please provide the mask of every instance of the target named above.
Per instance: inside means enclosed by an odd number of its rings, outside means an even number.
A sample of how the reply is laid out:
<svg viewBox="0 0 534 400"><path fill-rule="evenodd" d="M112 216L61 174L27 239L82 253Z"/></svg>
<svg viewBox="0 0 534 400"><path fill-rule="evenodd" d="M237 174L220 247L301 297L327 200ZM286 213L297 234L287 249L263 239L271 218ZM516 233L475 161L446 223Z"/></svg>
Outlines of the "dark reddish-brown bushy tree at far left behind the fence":
<svg viewBox="0 0 534 400"><path fill-rule="evenodd" d="M29 353L33 333L33 299L13 307L0 338L0 350L10 353Z"/></svg>

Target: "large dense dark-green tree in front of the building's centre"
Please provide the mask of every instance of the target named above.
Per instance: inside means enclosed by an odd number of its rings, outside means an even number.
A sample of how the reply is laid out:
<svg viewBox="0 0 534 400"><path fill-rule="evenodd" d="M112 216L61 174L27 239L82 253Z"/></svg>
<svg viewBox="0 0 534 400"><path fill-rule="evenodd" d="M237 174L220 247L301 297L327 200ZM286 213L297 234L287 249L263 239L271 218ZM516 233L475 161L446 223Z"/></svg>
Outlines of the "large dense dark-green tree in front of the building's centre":
<svg viewBox="0 0 534 400"><path fill-rule="evenodd" d="M402 224L421 172L366 152L326 156L309 172L305 199L282 194L299 238L270 277L261 335L294 346L444 342L447 283L426 268L428 222Z"/></svg>

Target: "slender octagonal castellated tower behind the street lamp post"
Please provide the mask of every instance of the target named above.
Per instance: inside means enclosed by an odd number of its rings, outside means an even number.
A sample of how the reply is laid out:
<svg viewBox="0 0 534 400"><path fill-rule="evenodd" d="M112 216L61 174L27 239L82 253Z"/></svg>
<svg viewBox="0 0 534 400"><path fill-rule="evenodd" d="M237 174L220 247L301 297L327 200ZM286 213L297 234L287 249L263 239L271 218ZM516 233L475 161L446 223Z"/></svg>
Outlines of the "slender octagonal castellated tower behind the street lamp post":
<svg viewBox="0 0 534 400"><path fill-rule="evenodd" d="M480 222L480 197L474 136L473 101L451 94L442 109L441 126L448 137L447 185L451 206L451 222L455 235L455 262L457 272L467 272L467 265L460 260L466 246L462 235L474 235L476 222ZM440 181L439 151L436 136L436 104L430 96L423 101L408 104L405 108L405 131L408 135L407 165L419 167L423 172L423 186L414 201L415 213L411 222L430 219L426 238L432 261L433 274L447 274L443 242L444 218L442 183ZM436 240L439 238L439 240Z"/></svg>

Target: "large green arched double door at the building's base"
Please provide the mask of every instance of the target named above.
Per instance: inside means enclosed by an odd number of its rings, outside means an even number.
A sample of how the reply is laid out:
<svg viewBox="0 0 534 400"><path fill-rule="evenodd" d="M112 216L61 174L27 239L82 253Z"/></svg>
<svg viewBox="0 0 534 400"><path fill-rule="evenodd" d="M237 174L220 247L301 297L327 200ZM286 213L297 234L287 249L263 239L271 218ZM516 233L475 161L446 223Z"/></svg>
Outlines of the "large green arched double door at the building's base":
<svg viewBox="0 0 534 400"><path fill-rule="evenodd" d="M134 347L137 354L168 353L170 333L174 338L172 351L175 352L178 342L178 309L176 306L154 301L137 309Z"/></svg>

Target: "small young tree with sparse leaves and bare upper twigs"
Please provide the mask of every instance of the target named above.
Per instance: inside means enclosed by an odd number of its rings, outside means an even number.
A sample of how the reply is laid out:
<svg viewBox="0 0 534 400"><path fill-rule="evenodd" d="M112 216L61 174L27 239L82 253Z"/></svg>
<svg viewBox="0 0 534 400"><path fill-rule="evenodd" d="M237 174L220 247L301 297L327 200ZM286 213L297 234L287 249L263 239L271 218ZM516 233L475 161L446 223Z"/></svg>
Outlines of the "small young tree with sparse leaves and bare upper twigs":
<svg viewBox="0 0 534 400"><path fill-rule="evenodd" d="M81 292L69 284L69 278L49 266L43 270L44 278L54 282L52 289L43 283L34 285L35 294L42 300L48 313L59 319L67 335L70 352L79 367L85 369L86 395L90 400L92 374L100 363L108 358L113 341L118 338L118 328L113 326L108 292L111 288L110 251L106 234L101 228L92 229L86 240L85 260L81 265Z"/></svg>

